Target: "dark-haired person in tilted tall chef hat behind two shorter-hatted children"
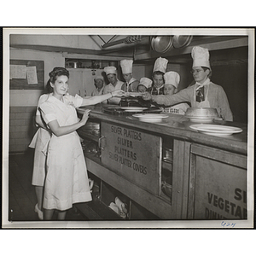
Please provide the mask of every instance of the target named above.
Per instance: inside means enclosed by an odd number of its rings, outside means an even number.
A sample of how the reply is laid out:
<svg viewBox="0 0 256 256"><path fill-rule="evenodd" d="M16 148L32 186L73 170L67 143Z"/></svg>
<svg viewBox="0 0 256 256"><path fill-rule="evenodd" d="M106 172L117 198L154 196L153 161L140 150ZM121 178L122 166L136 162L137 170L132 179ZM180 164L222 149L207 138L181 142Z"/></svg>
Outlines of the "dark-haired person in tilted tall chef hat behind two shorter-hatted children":
<svg viewBox="0 0 256 256"><path fill-rule="evenodd" d="M154 62L154 69L152 74L152 79L154 84L152 88L149 90L152 95L162 95L164 94L164 74L166 73L168 60L165 58L159 57Z"/></svg>

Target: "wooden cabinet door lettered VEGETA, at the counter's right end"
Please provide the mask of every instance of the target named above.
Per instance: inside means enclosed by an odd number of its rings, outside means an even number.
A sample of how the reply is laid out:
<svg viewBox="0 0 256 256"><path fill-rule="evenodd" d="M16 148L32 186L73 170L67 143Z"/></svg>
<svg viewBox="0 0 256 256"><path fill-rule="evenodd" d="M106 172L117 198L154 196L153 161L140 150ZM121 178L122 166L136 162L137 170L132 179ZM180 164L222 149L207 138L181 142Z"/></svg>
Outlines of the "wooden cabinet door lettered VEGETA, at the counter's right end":
<svg viewBox="0 0 256 256"><path fill-rule="evenodd" d="M247 157L193 144L188 218L247 218Z"/></svg>

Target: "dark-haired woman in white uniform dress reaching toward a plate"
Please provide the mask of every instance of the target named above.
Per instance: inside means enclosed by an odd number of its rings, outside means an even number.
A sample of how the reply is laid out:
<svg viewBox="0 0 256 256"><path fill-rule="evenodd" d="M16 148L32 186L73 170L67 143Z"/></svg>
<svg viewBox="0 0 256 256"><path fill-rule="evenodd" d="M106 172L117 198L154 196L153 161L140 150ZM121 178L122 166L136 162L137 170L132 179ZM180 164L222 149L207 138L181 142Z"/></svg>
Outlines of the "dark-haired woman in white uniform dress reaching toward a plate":
<svg viewBox="0 0 256 256"><path fill-rule="evenodd" d="M64 67L55 67L49 73L49 79L53 94L39 106L44 122L52 132L47 147L44 219L51 219L54 210L58 210L58 219L63 220L74 203L91 201L83 149L76 132L85 125L90 111L86 110L78 122L75 108L122 96L123 92L116 90L84 98L67 95L69 73Z"/></svg>

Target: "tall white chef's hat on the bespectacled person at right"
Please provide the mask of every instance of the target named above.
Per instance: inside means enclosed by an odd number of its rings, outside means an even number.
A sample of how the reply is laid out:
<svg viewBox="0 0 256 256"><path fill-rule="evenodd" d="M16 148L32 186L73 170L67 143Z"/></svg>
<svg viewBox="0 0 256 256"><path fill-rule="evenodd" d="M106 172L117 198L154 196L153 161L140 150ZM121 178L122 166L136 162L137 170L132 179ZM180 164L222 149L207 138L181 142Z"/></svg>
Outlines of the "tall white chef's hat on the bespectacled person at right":
<svg viewBox="0 0 256 256"><path fill-rule="evenodd" d="M210 67L210 55L209 51L206 48L202 48L200 46L195 46L192 49L191 56L193 58L193 66L192 67Z"/></svg>

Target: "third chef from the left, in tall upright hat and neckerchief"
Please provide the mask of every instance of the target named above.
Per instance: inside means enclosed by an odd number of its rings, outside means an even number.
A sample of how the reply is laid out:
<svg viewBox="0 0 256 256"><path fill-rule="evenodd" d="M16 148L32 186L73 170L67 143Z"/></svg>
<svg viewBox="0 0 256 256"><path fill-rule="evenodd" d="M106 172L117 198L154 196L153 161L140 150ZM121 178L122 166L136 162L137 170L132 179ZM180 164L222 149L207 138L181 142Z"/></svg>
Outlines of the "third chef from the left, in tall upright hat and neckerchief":
<svg viewBox="0 0 256 256"><path fill-rule="evenodd" d="M127 91L137 91L137 85L139 81L132 77L132 60L122 60L120 61L120 66L122 68L123 77L125 79L125 84L122 90Z"/></svg>

